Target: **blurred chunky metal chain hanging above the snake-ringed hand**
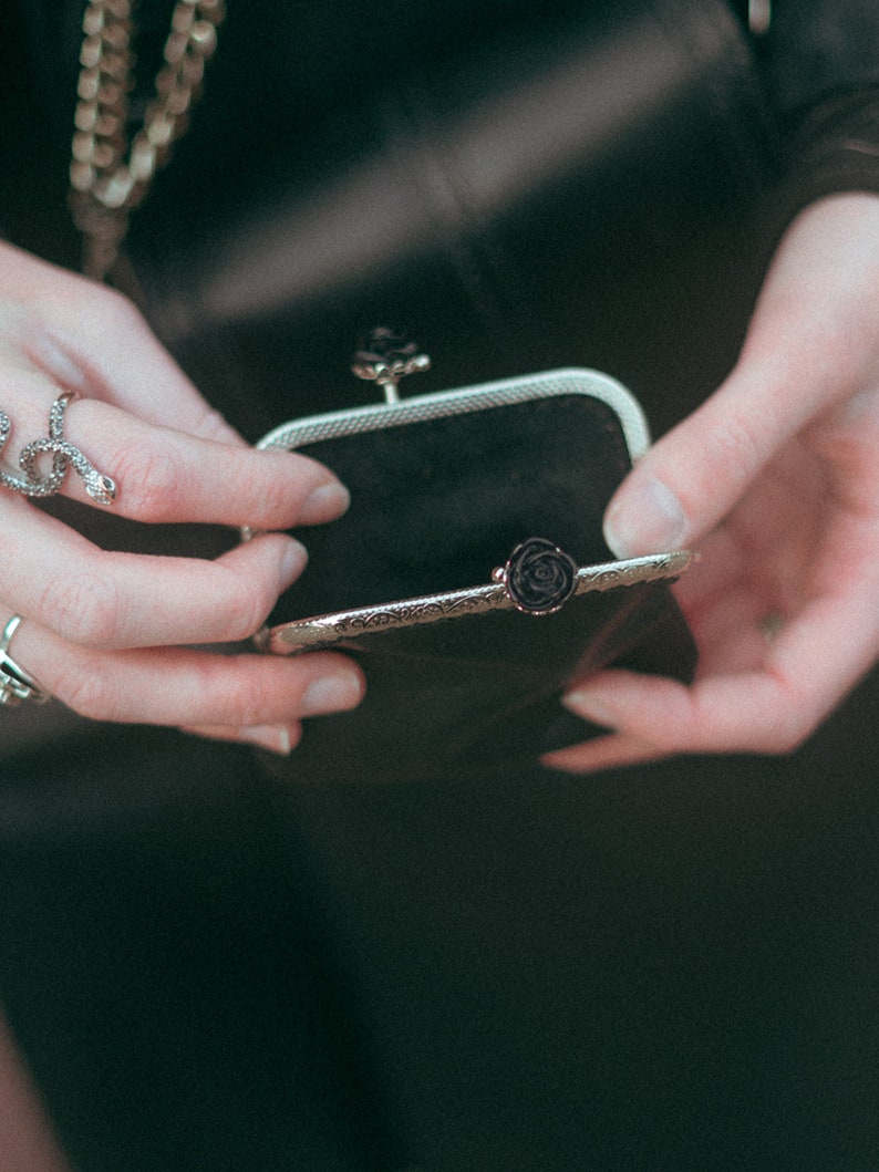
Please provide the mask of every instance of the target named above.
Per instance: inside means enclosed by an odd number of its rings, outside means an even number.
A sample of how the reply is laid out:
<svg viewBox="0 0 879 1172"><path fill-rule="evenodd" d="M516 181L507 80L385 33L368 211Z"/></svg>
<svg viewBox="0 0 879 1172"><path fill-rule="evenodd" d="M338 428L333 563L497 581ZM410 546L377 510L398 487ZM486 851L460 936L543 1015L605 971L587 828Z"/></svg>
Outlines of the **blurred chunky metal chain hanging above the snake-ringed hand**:
<svg viewBox="0 0 879 1172"><path fill-rule="evenodd" d="M225 14L223 0L177 0L155 91L129 148L131 8L131 0L89 0L82 21L71 209L83 233L83 272L96 280L113 268L131 209L186 129Z"/></svg>

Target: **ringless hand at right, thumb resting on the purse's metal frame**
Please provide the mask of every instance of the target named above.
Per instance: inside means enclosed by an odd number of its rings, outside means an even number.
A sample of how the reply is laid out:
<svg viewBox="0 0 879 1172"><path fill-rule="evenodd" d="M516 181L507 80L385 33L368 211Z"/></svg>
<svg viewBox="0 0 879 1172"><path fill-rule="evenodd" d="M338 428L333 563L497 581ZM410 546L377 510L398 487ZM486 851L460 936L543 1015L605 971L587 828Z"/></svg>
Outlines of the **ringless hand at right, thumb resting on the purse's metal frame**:
<svg viewBox="0 0 879 1172"><path fill-rule="evenodd" d="M799 745L879 650L879 198L789 229L740 361L611 502L622 556L701 546L676 587L695 683L620 670L568 707L613 730L545 758L574 771Z"/></svg>

